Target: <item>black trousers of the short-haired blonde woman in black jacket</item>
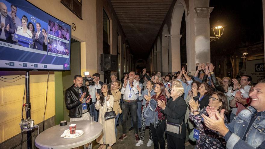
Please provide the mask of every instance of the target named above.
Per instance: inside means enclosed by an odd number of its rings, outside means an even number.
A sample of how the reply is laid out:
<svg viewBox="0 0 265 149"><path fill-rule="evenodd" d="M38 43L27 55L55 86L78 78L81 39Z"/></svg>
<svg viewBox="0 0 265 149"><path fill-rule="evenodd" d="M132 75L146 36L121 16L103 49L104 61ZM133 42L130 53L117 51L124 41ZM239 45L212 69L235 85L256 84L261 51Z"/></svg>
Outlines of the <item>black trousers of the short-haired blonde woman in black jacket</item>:
<svg viewBox="0 0 265 149"><path fill-rule="evenodd" d="M180 139L167 134L167 149L185 149L185 138Z"/></svg>

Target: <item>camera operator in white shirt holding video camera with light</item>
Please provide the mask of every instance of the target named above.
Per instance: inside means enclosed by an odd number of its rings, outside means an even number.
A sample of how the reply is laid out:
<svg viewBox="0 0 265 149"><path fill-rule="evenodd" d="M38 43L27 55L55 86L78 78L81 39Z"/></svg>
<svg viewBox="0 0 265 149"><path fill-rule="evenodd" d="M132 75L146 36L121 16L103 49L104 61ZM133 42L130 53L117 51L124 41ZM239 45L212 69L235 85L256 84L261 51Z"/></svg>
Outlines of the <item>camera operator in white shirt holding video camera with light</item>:
<svg viewBox="0 0 265 149"><path fill-rule="evenodd" d="M89 105L90 114L95 116L95 121L98 121L98 110L95 109L95 103L97 102L96 91L101 89L101 85L98 83L97 77L92 78L90 75L87 76L85 85L92 98L92 103Z"/></svg>

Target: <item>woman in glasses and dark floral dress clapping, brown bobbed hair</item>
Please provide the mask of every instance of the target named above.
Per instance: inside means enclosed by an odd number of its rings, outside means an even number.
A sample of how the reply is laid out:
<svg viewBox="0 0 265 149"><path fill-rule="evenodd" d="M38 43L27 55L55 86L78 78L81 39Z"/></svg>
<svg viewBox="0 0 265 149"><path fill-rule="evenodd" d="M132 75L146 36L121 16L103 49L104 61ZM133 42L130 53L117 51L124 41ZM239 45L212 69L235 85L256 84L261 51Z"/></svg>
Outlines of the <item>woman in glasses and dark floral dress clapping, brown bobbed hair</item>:
<svg viewBox="0 0 265 149"><path fill-rule="evenodd" d="M195 123L197 129L194 131L199 132L197 139L196 147L198 149L204 148L215 148L215 149L225 149L226 141L222 135L217 134L216 132L208 129L203 123L202 114L209 116L207 113L207 107L204 107L201 110L198 110L199 103L198 101L194 101L192 98L189 100L190 105L190 114L189 118ZM214 107L214 109L218 110L219 113L222 109L225 109L224 114L228 114L228 104L226 95L222 92L214 92L211 96L209 96L209 107ZM225 116L224 122L227 123L227 118Z"/></svg>

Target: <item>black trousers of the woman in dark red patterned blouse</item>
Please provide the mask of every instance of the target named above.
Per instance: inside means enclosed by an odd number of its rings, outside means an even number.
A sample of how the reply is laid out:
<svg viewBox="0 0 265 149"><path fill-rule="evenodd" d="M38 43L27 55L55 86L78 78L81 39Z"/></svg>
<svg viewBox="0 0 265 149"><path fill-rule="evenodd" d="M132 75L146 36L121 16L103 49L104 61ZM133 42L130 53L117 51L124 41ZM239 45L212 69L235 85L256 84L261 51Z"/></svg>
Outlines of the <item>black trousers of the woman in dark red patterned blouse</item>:
<svg viewBox="0 0 265 149"><path fill-rule="evenodd" d="M150 124L150 129L153 135L154 149L158 149L158 142L160 144L160 149L165 149L165 139L164 139L164 129L166 126L166 120L163 120L161 124L154 128L153 124Z"/></svg>

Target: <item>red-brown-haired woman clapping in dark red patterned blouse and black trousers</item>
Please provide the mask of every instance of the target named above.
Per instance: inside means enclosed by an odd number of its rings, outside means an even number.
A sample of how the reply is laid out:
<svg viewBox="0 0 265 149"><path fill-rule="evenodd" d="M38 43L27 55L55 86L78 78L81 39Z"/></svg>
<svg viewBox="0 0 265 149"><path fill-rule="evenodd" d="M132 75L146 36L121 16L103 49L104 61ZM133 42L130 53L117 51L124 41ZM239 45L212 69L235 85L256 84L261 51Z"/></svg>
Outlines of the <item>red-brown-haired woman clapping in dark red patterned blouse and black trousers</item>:
<svg viewBox="0 0 265 149"><path fill-rule="evenodd" d="M147 100L146 102L146 107L149 104L149 101L151 99L154 99L156 102L158 100L160 101L164 101L165 104L167 103L167 99L166 99L166 93L165 93L165 86L163 83L157 83L155 88L154 88L154 92L156 93L155 95L153 95L151 97L150 93L148 93L148 95L145 95L145 99ZM164 129L166 126L166 117L164 115L164 113L161 112L161 107L157 106L155 111L158 112L158 121L159 123L156 124L152 124L150 123L150 130L152 132L153 135L153 141L154 141L154 149L158 149L158 142L160 144L160 149L164 149L165 148L165 140L164 140ZM154 127L154 125L156 125L156 128Z"/></svg>

